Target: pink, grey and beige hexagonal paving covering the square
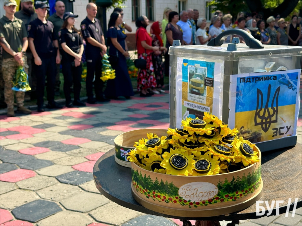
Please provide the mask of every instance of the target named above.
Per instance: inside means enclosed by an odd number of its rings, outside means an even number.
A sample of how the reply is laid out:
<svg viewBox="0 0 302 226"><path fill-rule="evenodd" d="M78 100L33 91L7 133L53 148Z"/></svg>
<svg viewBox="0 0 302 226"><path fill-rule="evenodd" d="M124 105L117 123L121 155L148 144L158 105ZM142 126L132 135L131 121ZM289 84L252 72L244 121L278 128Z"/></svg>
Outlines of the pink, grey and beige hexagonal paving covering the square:
<svg viewBox="0 0 302 226"><path fill-rule="evenodd" d="M145 215L109 201L92 177L95 161L114 147L115 136L168 126L167 93L27 116L0 115L0 225L182 225L177 219ZM302 143L302 119L299 126ZM301 226L301 210L295 217L241 223Z"/></svg>

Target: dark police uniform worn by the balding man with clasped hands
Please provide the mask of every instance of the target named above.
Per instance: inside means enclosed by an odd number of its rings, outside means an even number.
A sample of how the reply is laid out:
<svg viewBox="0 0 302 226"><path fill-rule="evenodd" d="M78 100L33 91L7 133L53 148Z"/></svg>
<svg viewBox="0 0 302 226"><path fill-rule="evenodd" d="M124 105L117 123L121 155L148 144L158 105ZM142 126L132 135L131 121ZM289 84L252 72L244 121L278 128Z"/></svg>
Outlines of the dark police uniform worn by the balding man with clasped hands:
<svg viewBox="0 0 302 226"><path fill-rule="evenodd" d="M87 62L87 75L86 75L86 95L87 100L93 100L93 78L94 74L96 75L94 81L94 88L97 100L103 100L103 85L104 82L100 79L102 75L102 56L101 56L101 48L91 45L87 38L94 38L101 44L101 36L103 35L103 31L101 28L101 22L95 18L95 22L92 22L87 17L81 22L81 31L82 36L86 41L86 62Z"/></svg>

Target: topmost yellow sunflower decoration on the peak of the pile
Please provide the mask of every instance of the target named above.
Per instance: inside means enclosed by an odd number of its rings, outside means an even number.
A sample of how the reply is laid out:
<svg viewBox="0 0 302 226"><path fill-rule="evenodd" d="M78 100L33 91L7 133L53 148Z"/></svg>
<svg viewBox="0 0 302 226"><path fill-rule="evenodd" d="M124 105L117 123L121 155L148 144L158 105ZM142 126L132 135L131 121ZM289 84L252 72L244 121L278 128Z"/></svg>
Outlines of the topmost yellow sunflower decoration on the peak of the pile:
<svg viewBox="0 0 302 226"><path fill-rule="evenodd" d="M183 130L187 131L190 135L194 133L195 135L210 135L212 133L212 130L214 129L213 127L205 128L206 122L198 119L198 117L196 119L187 118L186 120L182 120L181 124Z"/></svg>

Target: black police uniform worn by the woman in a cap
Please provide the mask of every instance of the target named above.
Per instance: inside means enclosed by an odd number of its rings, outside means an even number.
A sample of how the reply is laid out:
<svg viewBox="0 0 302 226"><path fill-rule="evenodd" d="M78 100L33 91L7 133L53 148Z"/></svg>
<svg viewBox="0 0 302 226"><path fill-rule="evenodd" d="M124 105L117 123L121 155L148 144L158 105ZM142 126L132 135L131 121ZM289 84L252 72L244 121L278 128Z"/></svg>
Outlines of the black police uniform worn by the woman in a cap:
<svg viewBox="0 0 302 226"><path fill-rule="evenodd" d="M60 44L66 43L66 45L75 53L79 54L80 46L83 45L82 37L78 32L72 30L69 32L67 28L59 31L59 42ZM74 57L66 53L63 49L60 50L62 55L62 72L64 75L64 94L66 98L66 106L71 103L70 87L73 81L74 89L74 101L80 101L80 90L81 90L81 74L82 64L75 67Z"/></svg>

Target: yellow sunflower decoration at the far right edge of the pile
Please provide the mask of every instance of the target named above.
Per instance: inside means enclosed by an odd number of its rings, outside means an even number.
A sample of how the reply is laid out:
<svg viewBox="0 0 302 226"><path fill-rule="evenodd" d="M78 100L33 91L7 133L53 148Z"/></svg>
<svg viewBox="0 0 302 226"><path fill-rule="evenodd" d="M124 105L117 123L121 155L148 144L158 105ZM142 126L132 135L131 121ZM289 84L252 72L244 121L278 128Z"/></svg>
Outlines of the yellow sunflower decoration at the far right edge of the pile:
<svg viewBox="0 0 302 226"><path fill-rule="evenodd" d="M242 162L245 167L259 162L258 152L253 150L255 146L248 140L244 140L242 137L234 138L231 143L232 151L234 152L235 163Z"/></svg>

